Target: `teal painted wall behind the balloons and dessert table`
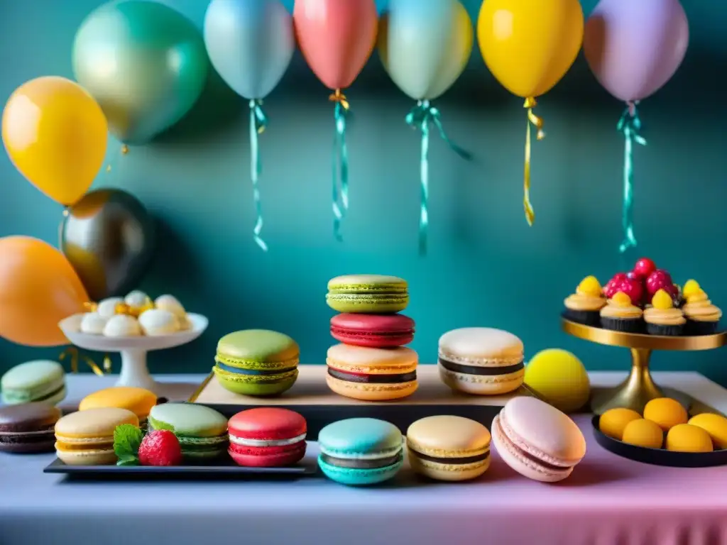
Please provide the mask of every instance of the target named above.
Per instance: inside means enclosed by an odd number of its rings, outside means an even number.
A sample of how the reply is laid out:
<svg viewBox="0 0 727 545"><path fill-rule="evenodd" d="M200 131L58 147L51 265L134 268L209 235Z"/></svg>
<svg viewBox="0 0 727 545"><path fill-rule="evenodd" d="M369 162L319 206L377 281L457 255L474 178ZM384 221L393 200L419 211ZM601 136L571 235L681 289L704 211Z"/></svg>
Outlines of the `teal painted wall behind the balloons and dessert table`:
<svg viewBox="0 0 727 545"><path fill-rule="evenodd" d="M168 3L201 25L206 1ZM480 2L465 3L476 16ZM98 4L0 0L1 103L28 79L72 76L73 35ZM697 278L727 307L727 106L718 84L727 66L727 6L716 0L683 4L692 36L686 61L641 108L648 146L635 159L635 254L653 257L680 282ZM585 3L585 12L594 5ZM475 160L465 163L434 142L425 258L417 255L419 140L403 122L411 102L387 79L376 55L348 92L355 112L351 206L345 243L334 241L327 96L297 55L266 101L262 192L268 254L251 236L246 105L217 77L188 118L158 142L133 148L118 168L97 179L95 187L134 193L158 218L158 258L140 287L153 295L177 294L189 310L210 318L209 331L188 348L151 355L153 371L208 371L217 339L252 327L292 335L304 363L321 363L332 344L326 281L368 272L409 280L407 313L417 320L412 346L423 362L435 361L444 331L494 326L521 336L529 356L563 347L589 368L626 371L626 350L571 339L558 322L563 298L583 276L605 281L624 268L616 250L623 139L615 125L622 106L598 86L582 58L540 101L548 136L534 147L537 222L530 228L521 204L521 100L502 89L473 52L470 67L438 105L451 137L473 150ZM115 143L109 153L118 153ZM0 236L55 242L60 213L0 154ZM57 353L0 341L0 371ZM726 356L723 350L658 354L653 363L727 384Z"/></svg>

